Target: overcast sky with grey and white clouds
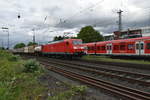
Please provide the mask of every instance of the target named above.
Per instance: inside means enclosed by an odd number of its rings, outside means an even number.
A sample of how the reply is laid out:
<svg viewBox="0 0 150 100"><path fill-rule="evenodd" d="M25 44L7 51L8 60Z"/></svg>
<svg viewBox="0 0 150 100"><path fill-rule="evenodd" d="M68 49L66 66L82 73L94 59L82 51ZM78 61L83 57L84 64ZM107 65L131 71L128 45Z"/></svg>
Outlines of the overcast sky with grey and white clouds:
<svg viewBox="0 0 150 100"><path fill-rule="evenodd" d="M123 28L150 25L150 0L0 0L0 27L8 27L10 45L51 41L54 36L92 25L102 34L118 30L119 9ZM21 18L17 16L20 14ZM7 32L0 29L0 46L7 44Z"/></svg>

